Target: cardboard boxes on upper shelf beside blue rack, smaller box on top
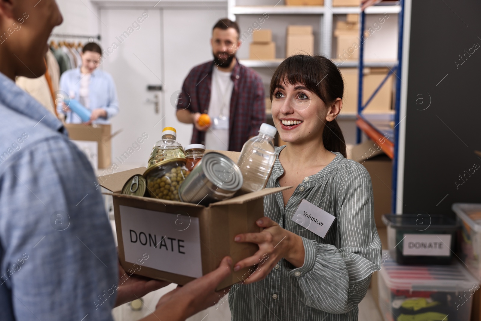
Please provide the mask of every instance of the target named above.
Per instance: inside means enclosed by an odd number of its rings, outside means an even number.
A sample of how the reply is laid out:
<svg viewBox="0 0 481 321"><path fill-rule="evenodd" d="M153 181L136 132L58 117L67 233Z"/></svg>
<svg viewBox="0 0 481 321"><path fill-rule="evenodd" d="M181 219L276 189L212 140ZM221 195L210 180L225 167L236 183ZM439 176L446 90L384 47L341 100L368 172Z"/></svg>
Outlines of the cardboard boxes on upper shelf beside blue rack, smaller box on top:
<svg viewBox="0 0 481 321"><path fill-rule="evenodd" d="M347 14L346 21L338 21L334 36L337 38L336 58L342 61L359 59L359 14Z"/></svg>

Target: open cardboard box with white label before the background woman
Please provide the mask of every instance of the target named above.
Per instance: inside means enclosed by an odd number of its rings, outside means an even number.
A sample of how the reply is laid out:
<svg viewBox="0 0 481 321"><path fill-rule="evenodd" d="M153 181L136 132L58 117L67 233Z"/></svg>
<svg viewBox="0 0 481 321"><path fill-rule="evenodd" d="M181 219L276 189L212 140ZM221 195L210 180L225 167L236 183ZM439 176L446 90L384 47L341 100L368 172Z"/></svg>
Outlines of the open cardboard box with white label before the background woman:
<svg viewBox="0 0 481 321"><path fill-rule="evenodd" d="M111 164L110 125L65 124L68 137L87 155L92 167L107 168Z"/></svg>

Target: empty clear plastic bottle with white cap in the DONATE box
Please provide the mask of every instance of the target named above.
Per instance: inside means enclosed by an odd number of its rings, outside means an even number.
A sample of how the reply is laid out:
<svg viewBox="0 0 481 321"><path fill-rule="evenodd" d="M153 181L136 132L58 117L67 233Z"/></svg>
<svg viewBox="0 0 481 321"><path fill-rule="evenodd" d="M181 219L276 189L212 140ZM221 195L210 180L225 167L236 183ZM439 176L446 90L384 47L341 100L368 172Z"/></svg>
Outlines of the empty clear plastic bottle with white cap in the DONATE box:
<svg viewBox="0 0 481 321"><path fill-rule="evenodd" d="M242 146L241 156L237 165L241 167L244 183L241 190L251 193L266 187L276 153L274 136L277 129L269 124L262 124L259 135L246 141Z"/></svg>

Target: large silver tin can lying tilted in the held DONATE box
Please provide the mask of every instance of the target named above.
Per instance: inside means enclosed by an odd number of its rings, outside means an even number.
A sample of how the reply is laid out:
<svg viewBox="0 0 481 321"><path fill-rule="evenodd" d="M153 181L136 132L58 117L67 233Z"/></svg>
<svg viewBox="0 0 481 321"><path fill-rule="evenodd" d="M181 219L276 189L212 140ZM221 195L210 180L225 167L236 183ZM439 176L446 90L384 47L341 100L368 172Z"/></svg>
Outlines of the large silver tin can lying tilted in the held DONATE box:
<svg viewBox="0 0 481 321"><path fill-rule="evenodd" d="M201 205L232 197L243 183L241 169L229 157L207 153L179 188L182 202Z"/></svg>

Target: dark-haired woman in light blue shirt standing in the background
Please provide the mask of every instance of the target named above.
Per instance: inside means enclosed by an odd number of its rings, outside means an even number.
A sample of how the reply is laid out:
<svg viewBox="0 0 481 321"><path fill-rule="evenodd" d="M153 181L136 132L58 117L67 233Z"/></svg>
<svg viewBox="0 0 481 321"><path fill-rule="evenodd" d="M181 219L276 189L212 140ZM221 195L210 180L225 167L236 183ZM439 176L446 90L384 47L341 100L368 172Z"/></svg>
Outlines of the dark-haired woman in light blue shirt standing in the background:
<svg viewBox="0 0 481 321"><path fill-rule="evenodd" d="M110 118L117 115L118 99L114 80L108 73L97 69L102 50L95 42L87 43L81 53L82 65L67 70L60 78L62 96L78 100L92 116L86 124L110 124ZM58 109L66 115L67 124L80 124L82 120L65 105Z"/></svg>

